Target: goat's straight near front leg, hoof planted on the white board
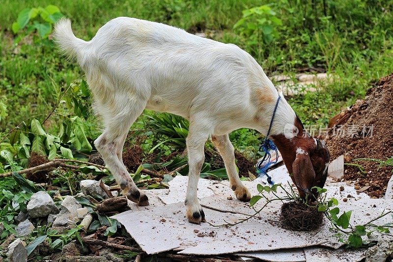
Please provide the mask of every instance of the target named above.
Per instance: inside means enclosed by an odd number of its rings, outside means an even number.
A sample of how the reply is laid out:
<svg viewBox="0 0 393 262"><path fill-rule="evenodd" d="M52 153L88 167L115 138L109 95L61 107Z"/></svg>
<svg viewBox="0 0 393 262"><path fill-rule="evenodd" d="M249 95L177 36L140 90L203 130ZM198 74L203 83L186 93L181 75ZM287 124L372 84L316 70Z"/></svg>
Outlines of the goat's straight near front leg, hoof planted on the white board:
<svg viewBox="0 0 393 262"><path fill-rule="evenodd" d="M187 206L188 221L193 224L200 224L200 222L206 221L203 209L198 202L197 189L200 170L205 160L204 145L207 137L208 134L195 133L190 128L186 139L190 170L184 204Z"/></svg>

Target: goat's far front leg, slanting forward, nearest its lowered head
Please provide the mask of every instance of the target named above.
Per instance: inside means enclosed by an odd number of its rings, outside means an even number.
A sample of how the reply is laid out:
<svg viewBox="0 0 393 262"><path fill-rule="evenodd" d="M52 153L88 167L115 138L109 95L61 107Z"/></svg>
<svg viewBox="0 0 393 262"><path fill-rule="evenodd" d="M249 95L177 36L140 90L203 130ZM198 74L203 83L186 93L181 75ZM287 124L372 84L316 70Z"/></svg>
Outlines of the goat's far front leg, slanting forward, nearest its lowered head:
<svg viewBox="0 0 393 262"><path fill-rule="evenodd" d="M230 187L235 191L236 198L243 202L249 202L251 199L250 191L240 181L236 170L235 154L232 143L229 141L228 135L212 136L212 142L217 147L223 157L226 173L229 177Z"/></svg>

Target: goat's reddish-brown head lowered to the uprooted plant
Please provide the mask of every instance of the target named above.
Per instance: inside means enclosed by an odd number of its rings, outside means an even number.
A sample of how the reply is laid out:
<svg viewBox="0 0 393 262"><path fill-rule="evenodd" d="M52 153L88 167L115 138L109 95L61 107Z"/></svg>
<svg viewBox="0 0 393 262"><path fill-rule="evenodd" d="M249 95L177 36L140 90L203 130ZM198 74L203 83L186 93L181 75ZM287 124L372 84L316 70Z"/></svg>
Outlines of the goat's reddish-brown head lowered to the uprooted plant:
<svg viewBox="0 0 393 262"><path fill-rule="evenodd" d="M312 187L322 188L325 185L330 153L324 141L310 137L297 117L291 137L284 134L272 136L279 148L285 166L296 185L299 195L317 197L317 191Z"/></svg>

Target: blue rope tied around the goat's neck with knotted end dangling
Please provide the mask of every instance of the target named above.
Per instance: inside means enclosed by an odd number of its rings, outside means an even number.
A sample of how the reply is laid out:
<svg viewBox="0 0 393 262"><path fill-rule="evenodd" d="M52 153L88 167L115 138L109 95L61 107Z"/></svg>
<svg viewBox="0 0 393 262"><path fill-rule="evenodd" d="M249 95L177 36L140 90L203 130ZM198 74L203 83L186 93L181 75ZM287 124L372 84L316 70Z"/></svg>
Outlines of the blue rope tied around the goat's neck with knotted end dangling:
<svg viewBox="0 0 393 262"><path fill-rule="evenodd" d="M277 163L279 152L278 152L277 146L274 145L273 141L271 141L269 139L269 135L270 135L270 130L272 129L273 120L274 120L274 116L276 115L277 107L279 106L280 98L281 98L281 96L279 94L279 98L277 99L277 102L276 102L276 107L274 108L274 111L273 111L272 119L270 120L269 130L267 131L266 137L262 141L262 145L259 147L259 152L263 151L263 152L265 152L265 155L263 156L262 160L259 161L258 164L256 165L257 173L262 174L262 175L266 175L267 182L271 185L274 184L274 181L272 181L272 177L267 174L267 170L269 169L270 166L275 165ZM269 149L274 150L276 152L276 161L274 161L274 162L270 162L272 155L270 154ZM262 163L265 160L267 160L267 163L266 163L266 165L262 166Z"/></svg>

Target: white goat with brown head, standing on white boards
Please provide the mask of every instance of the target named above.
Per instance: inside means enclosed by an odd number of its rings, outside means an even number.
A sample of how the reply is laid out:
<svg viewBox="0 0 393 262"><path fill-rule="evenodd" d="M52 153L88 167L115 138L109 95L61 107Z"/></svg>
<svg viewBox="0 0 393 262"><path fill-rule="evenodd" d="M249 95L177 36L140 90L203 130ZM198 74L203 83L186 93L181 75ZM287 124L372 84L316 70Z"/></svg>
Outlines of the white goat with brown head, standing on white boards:
<svg viewBox="0 0 393 262"><path fill-rule="evenodd" d="M77 38L70 20L62 18L56 23L54 39L60 51L76 59L85 72L93 109L105 127L94 145L123 194L138 205L148 205L148 198L127 172L122 149L130 126L144 109L183 116L190 122L185 205L191 223L205 221L197 182L209 137L224 159L237 199L250 200L236 170L228 133L247 127L266 134L279 96L270 138L301 196L310 193L312 186L323 187L329 163L326 146L305 135L282 93L238 46L127 17L109 21L90 41Z"/></svg>

